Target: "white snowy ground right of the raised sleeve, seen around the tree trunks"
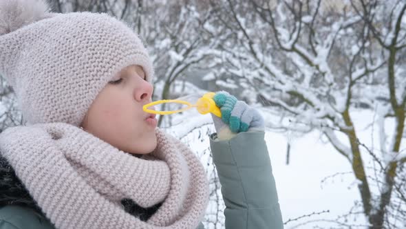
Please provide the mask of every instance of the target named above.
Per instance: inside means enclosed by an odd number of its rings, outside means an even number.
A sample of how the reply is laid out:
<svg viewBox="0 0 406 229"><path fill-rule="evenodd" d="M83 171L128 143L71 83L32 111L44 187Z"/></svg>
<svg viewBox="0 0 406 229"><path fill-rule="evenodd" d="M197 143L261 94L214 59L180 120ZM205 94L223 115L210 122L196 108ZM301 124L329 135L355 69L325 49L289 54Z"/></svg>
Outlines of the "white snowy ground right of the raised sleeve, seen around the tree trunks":
<svg viewBox="0 0 406 229"><path fill-rule="evenodd" d="M352 119L361 143L379 155L378 127L374 112L354 111ZM386 132L392 132L393 126L393 120L387 120ZM291 145L289 165L286 165L287 139L290 139ZM362 214L352 215L348 217L348 221L342 218L354 208L355 202L359 206L361 198L350 163L334 150L325 137L321 137L318 131L296 138L286 133L266 132L266 142L284 221L313 212L323 212L290 221L285 228L349 228L347 225L352 225L352 228L366 228ZM374 148L371 148L372 145ZM405 148L404 144L401 148ZM370 168L369 174L372 175L372 159L362 147L361 153L364 165ZM370 182L370 186L371 190L376 190L373 182Z"/></svg>

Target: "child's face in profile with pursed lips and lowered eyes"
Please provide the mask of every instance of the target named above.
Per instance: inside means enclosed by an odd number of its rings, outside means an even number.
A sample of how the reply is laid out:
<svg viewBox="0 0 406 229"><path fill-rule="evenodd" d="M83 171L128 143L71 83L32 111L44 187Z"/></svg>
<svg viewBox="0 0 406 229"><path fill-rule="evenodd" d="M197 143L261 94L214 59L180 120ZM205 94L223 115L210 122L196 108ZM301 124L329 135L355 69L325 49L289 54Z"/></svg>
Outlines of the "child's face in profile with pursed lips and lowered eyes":
<svg viewBox="0 0 406 229"><path fill-rule="evenodd" d="M142 110L151 102L152 92L142 67L129 66L98 94L81 126L122 151L152 152L156 148L157 121Z"/></svg>

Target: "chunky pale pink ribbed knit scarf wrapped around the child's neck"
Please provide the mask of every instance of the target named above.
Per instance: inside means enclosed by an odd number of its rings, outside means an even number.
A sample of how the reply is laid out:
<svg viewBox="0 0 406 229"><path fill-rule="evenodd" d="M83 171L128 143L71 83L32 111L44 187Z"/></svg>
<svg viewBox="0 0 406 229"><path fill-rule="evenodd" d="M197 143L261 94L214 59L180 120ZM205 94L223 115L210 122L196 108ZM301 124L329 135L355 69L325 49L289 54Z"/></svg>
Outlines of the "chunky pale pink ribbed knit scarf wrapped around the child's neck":
<svg viewBox="0 0 406 229"><path fill-rule="evenodd" d="M3 131L0 152L56 228L194 229L209 199L204 168L183 143L156 136L156 150L138 158L76 126L44 123ZM162 206L141 221L122 199Z"/></svg>

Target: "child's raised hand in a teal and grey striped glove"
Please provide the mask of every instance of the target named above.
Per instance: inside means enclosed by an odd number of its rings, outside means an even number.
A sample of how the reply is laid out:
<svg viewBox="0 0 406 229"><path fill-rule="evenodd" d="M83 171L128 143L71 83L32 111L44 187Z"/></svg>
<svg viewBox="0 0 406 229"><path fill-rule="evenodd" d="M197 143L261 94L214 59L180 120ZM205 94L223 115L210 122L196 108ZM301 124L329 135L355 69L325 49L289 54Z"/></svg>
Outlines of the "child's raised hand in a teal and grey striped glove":
<svg viewBox="0 0 406 229"><path fill-rule="evenodd" d="M237 101L233 95L224 91L217 92L213 100L222 111L221 119L212 115L220 140L231 139L238 132L264 130L264 118L244 101Z"/></svg>

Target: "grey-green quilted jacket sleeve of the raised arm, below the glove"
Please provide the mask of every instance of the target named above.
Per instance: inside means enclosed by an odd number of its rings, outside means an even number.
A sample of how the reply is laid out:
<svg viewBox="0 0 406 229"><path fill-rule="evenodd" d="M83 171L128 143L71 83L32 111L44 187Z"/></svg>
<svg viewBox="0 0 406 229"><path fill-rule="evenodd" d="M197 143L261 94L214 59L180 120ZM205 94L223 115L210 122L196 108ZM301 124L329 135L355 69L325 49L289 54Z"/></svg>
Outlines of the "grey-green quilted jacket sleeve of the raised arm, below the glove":
<svg viewBox="0 0 406 229"><path fill-rule="evenodd" d="M226 205L226 229L284 228L264 132L216 138L211 135L210 144Z"/></svg>

